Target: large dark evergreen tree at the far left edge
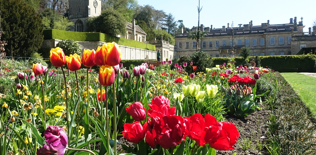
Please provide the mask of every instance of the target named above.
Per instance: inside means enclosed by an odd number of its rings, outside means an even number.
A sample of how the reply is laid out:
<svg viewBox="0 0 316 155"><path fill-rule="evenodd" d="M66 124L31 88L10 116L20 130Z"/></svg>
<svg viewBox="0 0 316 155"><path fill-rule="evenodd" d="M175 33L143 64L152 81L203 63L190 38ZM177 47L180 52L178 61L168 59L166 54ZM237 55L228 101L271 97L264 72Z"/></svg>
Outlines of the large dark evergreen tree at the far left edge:
<svg viewBox="0 0 316 155"><path fill-rule="evenodd" d="M27 57L36 52L44 38L40 15L22 0L1 0L0 10L7 55Z"/></svg>

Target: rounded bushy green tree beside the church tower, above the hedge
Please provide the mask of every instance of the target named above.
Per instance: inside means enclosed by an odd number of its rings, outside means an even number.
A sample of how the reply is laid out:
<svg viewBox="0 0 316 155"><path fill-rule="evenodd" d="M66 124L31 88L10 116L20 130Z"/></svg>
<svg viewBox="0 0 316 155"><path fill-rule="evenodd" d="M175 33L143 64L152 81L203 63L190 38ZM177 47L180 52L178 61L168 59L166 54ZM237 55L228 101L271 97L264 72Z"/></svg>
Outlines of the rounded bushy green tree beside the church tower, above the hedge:
<svg viewBox="0 0 316 155"><path fill-rule="evenodd" d="M101 32L116 36L126 35L126 21L123 16L112 8L101 12L99 16L89 17L87 20L89 32Z"/></svg>

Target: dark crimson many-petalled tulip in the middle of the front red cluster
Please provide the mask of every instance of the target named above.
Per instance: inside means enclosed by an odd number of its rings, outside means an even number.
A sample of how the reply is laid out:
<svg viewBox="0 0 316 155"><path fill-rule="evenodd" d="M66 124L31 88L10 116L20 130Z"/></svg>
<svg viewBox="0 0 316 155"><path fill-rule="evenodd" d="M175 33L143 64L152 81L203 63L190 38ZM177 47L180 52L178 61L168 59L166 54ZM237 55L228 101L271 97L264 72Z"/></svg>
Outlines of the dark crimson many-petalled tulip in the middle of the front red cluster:
<svg viewBox="0 0 316 155"><path fill-rule="evenodd" d="M177 146L185 139L186 126L181 116L164 116L155 123L154 129L153 135L164 149Z"/></svg>

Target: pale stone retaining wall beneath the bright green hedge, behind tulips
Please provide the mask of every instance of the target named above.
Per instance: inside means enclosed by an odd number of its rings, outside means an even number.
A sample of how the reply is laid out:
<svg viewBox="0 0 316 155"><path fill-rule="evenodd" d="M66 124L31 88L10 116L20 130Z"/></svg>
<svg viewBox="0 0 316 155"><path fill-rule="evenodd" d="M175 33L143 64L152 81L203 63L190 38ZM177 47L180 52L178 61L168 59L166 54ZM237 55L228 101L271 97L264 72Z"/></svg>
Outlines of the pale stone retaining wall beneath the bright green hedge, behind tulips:
<svg viewBox="0 0 316 155"><path fill-rule="evenodd" d="M44 40L42 43L42 48L50 49L56 47L56 44L60 40L57 39L51 39L51 40ZM76 41L83 52L83 49L94 49L96 50L98 46L102 46L102 44L106 42L102 41ZM150 50L145 50L141 48L135 48L135 47L128 47L128 46L123 46L119 45L122 53L122 60L125 59L146 59L146 56L148 56L148 59L156 59L156 51L150 51ZM49 51L47 51L49 52Z"/></svg>

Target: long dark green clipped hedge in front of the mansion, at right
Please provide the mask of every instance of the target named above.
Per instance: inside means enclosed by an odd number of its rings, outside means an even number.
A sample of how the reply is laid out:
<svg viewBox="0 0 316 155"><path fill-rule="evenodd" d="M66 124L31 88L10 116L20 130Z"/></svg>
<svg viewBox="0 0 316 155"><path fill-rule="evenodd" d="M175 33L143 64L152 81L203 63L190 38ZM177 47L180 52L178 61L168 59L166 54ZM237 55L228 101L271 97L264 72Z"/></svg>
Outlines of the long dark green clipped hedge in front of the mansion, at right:
<svg viewBox="0 0 316 155"><path fill-rule="evenodd" d="M252 57L249 57L252 58ZM280 55L260 56L261 66L278 72L315 72L316 55ZM227 63L229 58L212 58L215 65ZM242 63L242 57L235 57L236 64Z"/></svg>

